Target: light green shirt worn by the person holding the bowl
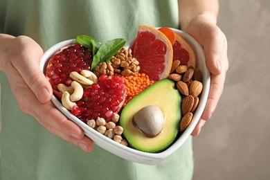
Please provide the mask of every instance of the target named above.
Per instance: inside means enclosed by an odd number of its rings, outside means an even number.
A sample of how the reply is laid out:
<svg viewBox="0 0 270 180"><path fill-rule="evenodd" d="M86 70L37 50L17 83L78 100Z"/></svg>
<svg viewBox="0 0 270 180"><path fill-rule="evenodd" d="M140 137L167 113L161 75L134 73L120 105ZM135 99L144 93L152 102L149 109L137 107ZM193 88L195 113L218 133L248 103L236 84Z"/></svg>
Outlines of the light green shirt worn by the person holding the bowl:
<svg viewBox="0 0 270 180"><path fill-rule="evenodd" d="M44 51L80 34L128 42L139 24L178 28L177 0L0 0L0 33L28 35ZM20 111L3 72L0 82L0 179L192 179L191 138L158 165L127 161L97 145L87 153Z"/></svg>

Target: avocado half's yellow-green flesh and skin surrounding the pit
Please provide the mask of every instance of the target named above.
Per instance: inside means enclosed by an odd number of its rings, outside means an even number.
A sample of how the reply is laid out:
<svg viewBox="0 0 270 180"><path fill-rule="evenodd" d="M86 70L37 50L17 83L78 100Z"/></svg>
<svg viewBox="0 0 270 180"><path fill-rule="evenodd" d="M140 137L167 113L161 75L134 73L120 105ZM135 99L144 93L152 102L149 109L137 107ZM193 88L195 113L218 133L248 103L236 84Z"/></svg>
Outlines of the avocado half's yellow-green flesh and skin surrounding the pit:
<svg viewBox="0 0 270 180"><path fill-rule="evenodd" d="M132 124L134 115L143 107L158 106L163 112L164 127L158 136L148 138ZM155 82L125 105L120 114L120 125L129 145L143 152L161 152L176 138L181 120L181 95L172 80Z"/></svg>

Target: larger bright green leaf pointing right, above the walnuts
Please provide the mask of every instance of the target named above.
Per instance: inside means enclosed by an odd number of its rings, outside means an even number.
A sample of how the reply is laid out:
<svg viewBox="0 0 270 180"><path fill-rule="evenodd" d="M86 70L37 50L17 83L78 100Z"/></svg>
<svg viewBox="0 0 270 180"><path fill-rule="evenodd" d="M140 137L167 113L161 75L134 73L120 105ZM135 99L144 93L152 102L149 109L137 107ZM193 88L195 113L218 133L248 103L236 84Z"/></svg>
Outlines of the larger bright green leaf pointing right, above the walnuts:
<svg viewBox="0 0 270 180"><path fill-rule="evenodd" d="M98 49L96 55L93 56L91 71L93 71L100 62L109 62L111 57L115 55L125 45L125 39L118 38L107 41Z"/></svg>

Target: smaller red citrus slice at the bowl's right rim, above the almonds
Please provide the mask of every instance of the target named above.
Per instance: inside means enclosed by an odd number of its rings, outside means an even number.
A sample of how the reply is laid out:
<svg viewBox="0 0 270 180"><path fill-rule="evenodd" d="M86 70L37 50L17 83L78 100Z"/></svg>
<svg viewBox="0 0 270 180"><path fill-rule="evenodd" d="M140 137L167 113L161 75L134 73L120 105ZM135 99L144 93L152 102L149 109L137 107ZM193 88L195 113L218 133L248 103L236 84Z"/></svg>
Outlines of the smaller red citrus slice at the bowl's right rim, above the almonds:
<svg viewBox="0 0 270 180"><path fill-rule="evenodd" d="M176 34L173 48L173 60L180 60L181 65L196 67L196 55L193 48L180 35Z"/></svg>

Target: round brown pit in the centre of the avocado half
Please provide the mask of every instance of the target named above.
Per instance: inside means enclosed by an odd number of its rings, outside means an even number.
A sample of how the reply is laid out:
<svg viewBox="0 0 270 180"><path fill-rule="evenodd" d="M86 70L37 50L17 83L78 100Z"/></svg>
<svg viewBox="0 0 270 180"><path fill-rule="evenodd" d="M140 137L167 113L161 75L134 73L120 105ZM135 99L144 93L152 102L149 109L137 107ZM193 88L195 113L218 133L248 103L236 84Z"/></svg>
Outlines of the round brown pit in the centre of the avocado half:
<svg viewBox="0 0 270 180"><path fill-rule="evenodd" d="M134 115L132 123L145 136L154 138L159 135L164 127L163 112L156 105L143 107Z"/></svg>

